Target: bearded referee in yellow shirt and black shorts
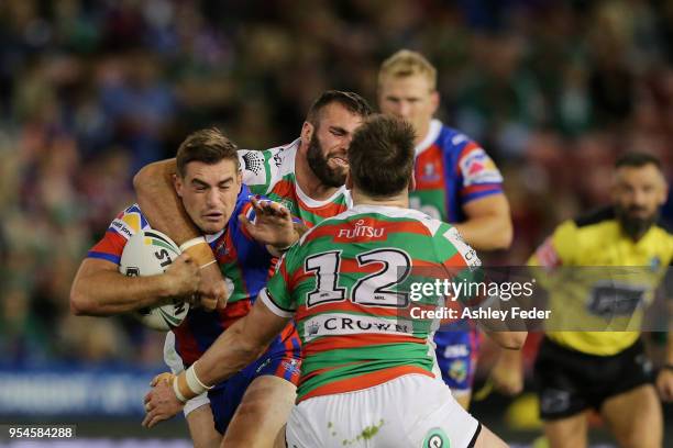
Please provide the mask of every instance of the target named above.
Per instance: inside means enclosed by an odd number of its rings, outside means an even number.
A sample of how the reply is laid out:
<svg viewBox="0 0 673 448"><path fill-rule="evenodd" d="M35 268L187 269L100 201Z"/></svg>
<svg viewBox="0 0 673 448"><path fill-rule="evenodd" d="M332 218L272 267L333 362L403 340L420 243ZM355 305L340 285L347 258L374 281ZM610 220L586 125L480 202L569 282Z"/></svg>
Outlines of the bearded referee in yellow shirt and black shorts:
<svg viewBox="0 0 673 448"><path fill-rule="evenodd" d="M605 318L602 313L606 305L613 317L624 313L627 322L642 318L643 302L652 299L673 259L673 231L659 220L666 194L666 181L655 157L628 154L617 161L613 205L559 225L529 264L543 267L549 278L567 271L562 267L643 268L635 281L622 284L622 291L616 283L606 289L595 275L586 276L589 269L578 280L554 281L550 300L563 300L564 304L555 306L554 313L570 312L577 299L583 302L587 322ZM592 276L593 280L586 279ZM610 307L616 298L619 310ZM558 328L569 326L554 325ZM600 413L621 447L662 446L663 417L657 394L664 401L673 400L671 333L655 387L640 333L626 331L548 332L538 352L534 378L552 448L587 446L589 408Z"/></svg>

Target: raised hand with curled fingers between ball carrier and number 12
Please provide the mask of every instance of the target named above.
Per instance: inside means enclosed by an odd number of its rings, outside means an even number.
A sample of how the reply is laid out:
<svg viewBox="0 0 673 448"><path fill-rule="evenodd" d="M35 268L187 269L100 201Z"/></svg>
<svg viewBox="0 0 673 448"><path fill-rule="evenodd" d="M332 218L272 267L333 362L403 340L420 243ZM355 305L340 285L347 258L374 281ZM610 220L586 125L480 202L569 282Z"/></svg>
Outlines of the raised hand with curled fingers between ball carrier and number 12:
<svg viewBox="0 0 673 448"><path fill-rule="evenodd" d="M250 202L255 210L255 221L251 222L243 214L239 220L253 238L276 248L285 248L299 239L293 215L286 206L255 197L251 197Z"/></svg>

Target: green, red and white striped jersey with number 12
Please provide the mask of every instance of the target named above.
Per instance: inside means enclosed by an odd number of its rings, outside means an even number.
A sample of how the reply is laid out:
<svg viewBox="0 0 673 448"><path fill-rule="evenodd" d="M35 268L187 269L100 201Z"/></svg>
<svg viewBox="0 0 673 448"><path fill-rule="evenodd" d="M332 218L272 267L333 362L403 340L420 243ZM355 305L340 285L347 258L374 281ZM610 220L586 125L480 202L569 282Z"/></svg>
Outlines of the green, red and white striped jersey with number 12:
<svg viewBox="0 0 673 448"><path fill-rule="evenodd" d="M481 265L455 227L421 212L356 205L322 221L280 259L260 296L294 317L304 349L298 400L369 388L407 373L433 377L437 309L413 282L466 277ZM418 300L418 298L416 298Z"/></svg>

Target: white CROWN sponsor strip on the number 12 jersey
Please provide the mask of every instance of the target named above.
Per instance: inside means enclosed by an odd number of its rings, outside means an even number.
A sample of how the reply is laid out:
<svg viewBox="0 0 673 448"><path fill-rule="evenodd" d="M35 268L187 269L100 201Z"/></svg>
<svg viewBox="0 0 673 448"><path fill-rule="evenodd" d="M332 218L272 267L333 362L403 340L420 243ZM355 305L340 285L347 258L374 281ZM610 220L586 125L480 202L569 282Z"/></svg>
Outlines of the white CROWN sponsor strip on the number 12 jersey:
<svg viewBox="0 0 673 448"><path fill-rule="evenodd" d="M320 314L304 324L305 340L311 340L319 336L358 333L412 334L413 326L410 321L338 313Z"/></svg>

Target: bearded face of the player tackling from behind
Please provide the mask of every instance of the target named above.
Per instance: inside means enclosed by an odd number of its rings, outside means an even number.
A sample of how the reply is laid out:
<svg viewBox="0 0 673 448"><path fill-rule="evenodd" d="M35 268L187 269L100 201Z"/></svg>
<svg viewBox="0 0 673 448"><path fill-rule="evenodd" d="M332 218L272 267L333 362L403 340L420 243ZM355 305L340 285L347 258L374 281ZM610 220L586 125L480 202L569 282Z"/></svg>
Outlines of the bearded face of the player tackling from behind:
<svg viewBox="0 0 673 448"><path fill-rule="evenodd" d="M312 127L307 160L313 173L329 187L341 187L349 172L347 150L362 116L339 103L320 111L320 123Z"/></svg>

